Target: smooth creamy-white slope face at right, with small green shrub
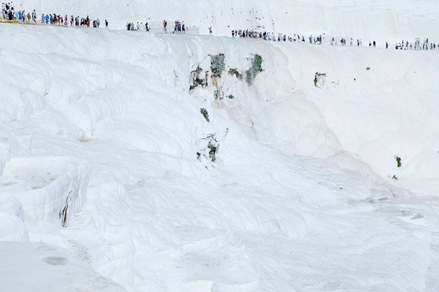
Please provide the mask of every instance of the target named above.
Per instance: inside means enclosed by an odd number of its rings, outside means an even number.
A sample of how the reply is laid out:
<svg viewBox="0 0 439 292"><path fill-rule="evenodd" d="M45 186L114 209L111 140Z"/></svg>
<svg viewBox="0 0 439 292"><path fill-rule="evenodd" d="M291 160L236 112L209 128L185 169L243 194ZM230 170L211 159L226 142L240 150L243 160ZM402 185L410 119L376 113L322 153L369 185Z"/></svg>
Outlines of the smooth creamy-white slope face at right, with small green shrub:
<svg viewBox="0 0 439 292"><path fill-rule="evenodd" d="M294 80L343 149L360 155L383 177L438 178L438 51L277 47L288 55ZM316 72L326 73L321 88L312 82Z"/></svg>

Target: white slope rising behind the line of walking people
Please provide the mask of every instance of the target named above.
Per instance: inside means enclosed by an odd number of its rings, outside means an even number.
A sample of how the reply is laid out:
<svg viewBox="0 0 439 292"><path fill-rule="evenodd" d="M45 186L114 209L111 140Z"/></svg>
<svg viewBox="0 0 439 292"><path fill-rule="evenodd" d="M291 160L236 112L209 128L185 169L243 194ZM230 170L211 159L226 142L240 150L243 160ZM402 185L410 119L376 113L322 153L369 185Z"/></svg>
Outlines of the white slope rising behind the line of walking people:
<svg viewBox="0 0 439 292"><path fill-rule="evenodd" d="M16 6L29 11L56 13L110 22L110 27L124 29L127 22L148 22L161 28L163 19L172 31L175 20L186 26L199 27L208 34L208 27L219 36L230 36L232 29L266 30L326 37L362 38L395 43L415 37L439 39L438 0L17 0ZM21 6L20 6L21 5ZM69 18L70 19L70 18ZM329 41L327 38L326 41Z"/></svg>

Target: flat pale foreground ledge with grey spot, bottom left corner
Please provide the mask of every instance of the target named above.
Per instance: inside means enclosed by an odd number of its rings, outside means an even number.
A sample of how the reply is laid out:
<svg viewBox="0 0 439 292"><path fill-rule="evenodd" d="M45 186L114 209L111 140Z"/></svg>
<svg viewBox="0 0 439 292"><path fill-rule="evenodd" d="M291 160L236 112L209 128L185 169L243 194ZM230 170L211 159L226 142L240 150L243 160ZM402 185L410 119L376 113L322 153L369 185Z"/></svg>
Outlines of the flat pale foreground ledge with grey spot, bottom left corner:
<svg viewBox="0 0 439 292"><path fill-rule="evenodd" d="M72 253L43 243L0 242L2 291L126 292Z"/></svg>

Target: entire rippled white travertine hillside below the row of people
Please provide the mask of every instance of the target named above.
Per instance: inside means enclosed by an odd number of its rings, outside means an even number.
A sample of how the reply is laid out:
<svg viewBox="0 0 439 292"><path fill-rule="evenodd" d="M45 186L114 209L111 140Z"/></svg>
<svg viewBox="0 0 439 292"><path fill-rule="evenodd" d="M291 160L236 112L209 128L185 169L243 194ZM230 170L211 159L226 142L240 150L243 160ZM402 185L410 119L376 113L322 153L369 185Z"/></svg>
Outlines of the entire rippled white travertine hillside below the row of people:
<svg viewBox="0 0 439 292"><path fill-rule="evenodd" d="M9 194L0 200L8 218L0 238L67 249L129 291L439 287L438 178L424 165L438 145L431 126L438 88L428 82L437 52L0 29L8 32L0 51L4 175L27 157L47 157L41 167L54 155L90 165L89 175L83 168L71 177L75 185L89 179L86 201L66 228L35 216L26 207L32 198L13 196L38 177L1 181ZM217 84L224 98L216 101L210 77L209 86L189 92L190 72L209 71L209 55L219 53L226 71L244 72L255 54L264 71L252 86L224 72ZM419 77L410 64L419 64ZM327 73L326 87L314 87L316 71ZM380 89L387 98L374 96ZM422 103L412 98L418 92ZM395 110L390 99L399 95ZM411 118L401 114L408 108ZM209 142L218 147L214 163ZM437 156L428 163L437 169ZM62 174L73 166L65 167L53 183L70 177ZM53 184L52 173L40 175ZM412 179L429 183L418 192Z"/></svg>

